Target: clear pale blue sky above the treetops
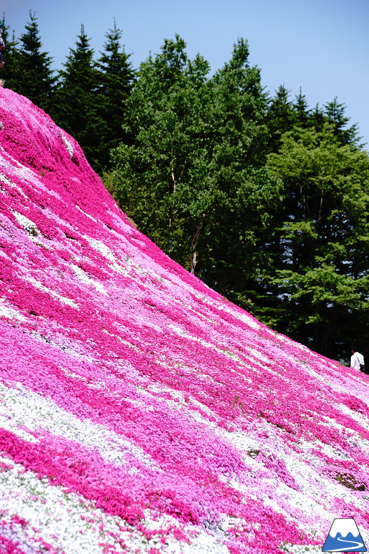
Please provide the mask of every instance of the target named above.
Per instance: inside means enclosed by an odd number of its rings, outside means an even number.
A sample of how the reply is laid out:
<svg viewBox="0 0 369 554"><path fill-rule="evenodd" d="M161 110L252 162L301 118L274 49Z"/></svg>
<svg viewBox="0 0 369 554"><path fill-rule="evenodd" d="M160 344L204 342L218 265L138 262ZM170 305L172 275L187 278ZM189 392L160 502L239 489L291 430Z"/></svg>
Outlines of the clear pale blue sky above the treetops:
<svg viewBox="0 0 369 554"><path fill-rule="evenodd" d="M274 94L284 84L294 98L301 87L310 107L337 96L369 150L369 0L0 0L16 37L29 9L55 69L74 47L81 23L98 53L114 17L135 68L178 33L190 58L200 53L215 71L244 37L266 90Z"/></svg>

